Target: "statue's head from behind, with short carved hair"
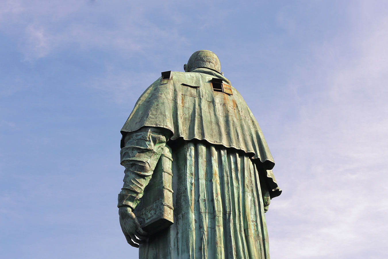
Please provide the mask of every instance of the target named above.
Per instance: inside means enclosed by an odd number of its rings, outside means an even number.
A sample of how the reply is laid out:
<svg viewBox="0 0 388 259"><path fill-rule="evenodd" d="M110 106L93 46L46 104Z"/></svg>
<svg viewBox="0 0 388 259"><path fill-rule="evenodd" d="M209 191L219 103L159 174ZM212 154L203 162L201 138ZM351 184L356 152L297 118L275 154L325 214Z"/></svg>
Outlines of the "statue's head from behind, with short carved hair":
<svg viewBox="0 0 388 259"><path fill-rule="evenodd" d="M198 50L194 52L187 64L183 66L185 72L191 72L196 68L209 68L221 73L220 60L217 55L210 50Z"/></svg>

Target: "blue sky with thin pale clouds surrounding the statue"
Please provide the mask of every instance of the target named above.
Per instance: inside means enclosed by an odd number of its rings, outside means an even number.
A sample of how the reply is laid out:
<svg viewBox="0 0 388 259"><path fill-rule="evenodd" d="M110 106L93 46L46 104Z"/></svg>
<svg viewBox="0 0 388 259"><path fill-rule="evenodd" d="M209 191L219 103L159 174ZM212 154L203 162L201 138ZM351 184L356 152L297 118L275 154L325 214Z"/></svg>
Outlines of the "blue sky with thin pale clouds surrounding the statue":
<svg viewBox="0 0 388 259"><path fill-rule="evenodd" d="M388 2L0 1L0 257L137 258L120 129L215 52L275 159L272 259L385 259Z"/></svg>

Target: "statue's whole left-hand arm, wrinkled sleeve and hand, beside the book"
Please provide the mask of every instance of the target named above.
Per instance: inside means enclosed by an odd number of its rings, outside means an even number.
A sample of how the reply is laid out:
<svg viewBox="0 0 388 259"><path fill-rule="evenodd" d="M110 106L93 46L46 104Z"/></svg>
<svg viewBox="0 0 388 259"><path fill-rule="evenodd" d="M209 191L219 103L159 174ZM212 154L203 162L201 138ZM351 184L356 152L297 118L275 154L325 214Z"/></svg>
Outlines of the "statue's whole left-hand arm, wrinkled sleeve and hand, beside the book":
<svg viewBox="0 0 388 259"><path fill-rule="evenodd" d="M142 127L124 136L124 147L120 150L121 165L125 167L123 188L118 196L120 225L127 242L139 247L147 233L139 225L135 209L143 196L145 186L151 180L152 173L163 153L170 132L156 127Z"/></svg>

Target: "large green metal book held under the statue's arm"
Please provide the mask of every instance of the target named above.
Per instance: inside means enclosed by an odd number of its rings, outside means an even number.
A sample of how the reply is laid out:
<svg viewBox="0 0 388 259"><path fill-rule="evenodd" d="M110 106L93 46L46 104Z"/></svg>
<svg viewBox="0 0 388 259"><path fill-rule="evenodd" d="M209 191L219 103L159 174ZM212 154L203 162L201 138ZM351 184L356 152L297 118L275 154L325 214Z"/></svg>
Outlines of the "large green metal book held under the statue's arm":
<svg viewBox="0 0 388 259"><path fill-rule="evenodd" d="M172 190L172 155L167 145L144 189L144 195L133 212L140 227L154 234L174 223Z"/></svg>

